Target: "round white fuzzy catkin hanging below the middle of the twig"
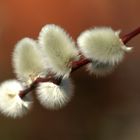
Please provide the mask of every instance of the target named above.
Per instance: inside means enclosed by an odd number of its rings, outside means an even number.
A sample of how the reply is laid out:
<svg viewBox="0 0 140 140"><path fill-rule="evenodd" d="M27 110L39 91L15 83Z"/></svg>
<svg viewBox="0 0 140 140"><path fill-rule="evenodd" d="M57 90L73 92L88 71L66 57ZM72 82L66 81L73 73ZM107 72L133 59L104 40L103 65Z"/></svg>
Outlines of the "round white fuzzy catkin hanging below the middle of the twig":
<svg viewBox="0 0 140 140"><path fill-rule="evenodd" d="M70 79L63 79L60 85L51 82L40 83L37 88L37 98L48 109L57 110L65 106L73 95L73 85Z"/></svg>

